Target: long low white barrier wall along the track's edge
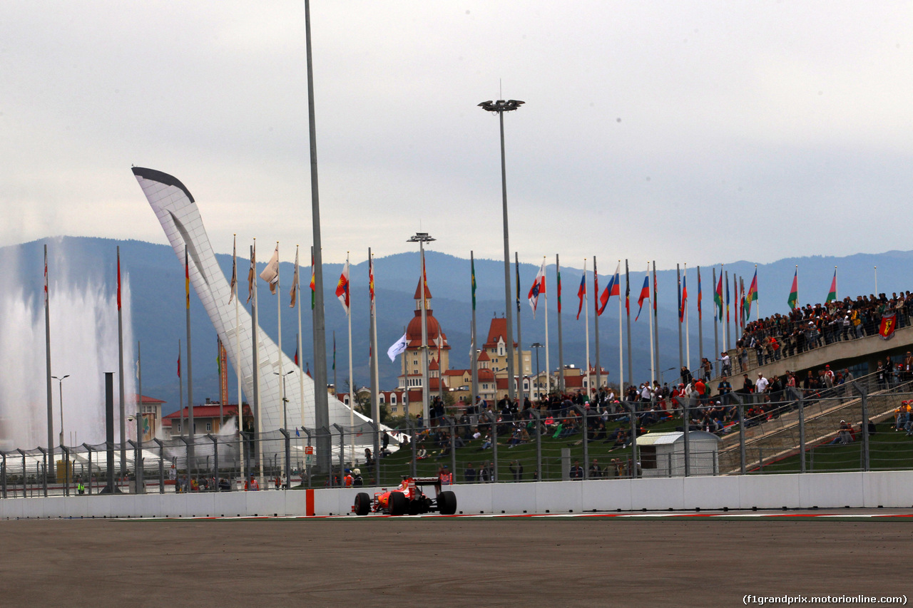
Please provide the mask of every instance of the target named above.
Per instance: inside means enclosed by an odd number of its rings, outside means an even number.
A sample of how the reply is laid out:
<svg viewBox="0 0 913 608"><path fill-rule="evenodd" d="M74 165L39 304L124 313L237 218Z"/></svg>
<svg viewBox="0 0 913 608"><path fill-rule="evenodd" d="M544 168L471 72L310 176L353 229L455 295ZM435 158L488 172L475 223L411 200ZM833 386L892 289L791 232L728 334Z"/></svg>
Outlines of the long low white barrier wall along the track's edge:
<svg viewBox="0 0 913 608"><path fill-rule="evenodd" d="M913 507L913 471L740 477L671 477L457 485L457 513L750 508ZM264 490L0 499L0 519L301 517L352 511L359 491Z"/></svg>

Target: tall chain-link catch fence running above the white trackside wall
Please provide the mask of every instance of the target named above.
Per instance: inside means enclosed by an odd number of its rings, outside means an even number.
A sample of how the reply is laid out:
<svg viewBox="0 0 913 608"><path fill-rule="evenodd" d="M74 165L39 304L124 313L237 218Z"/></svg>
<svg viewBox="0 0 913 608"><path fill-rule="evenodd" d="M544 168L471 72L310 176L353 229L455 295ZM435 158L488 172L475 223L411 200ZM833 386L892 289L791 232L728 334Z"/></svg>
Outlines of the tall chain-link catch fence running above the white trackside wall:
<svg viewBox="0 0 913 608"><path fill-rule="evenodd" d="M215 492L445 483L817 473L913 468L910 383L876 377L823 391L601 410L557 404L443 416L394 431L353 427L154 439L138 446L0 452L0 496ZM689 433L684 433L685 429ZM317 446L329 446L321 457ZM53 463L49 465L48 463Z"/></svg>

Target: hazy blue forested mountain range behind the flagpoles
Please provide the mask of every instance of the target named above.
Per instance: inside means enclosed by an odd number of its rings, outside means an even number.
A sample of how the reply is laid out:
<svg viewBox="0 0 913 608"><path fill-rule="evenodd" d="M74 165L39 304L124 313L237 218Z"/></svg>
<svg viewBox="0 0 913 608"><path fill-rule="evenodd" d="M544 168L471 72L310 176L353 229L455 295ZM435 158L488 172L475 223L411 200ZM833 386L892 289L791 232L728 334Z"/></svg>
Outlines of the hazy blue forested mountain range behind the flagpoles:
<svg viewBox="0 0 913 608"><path fill-rule="evenodd" d="M107 290L116 289L117 262L116 248L121 247L121 269L125 282L131 290L131 326L132 336L142 343L142 392L146 395L163 399L166 413L177 409L179 402L176 360L178 340L185 343L185 308L184 308L184 268L183 260L174 256L170 246L155 245L141 241L115 241L94 237L63 236L34 241L17 246L0 248L0 267L9 275L7 285L21 287L22 297L29 299L37 319L42 319L40 312L42 299L40 293L43 285L43 246L48 246L49 273L51 277L50 298L54 301L54 281L65 278L70 283L84 283ZM239 247L247 249L247 246ZM268 254L260 253L261 259ZM290 256L290 251L285 252ZM308 252L301 252L301 259L307 259ZM451 345L450 364L454 368L466 368L469 365L469 342L471 307L471 283L469 259L426 251L428 288L432 299L429 308L433 309L436 319L446 334ZM219 265L231 276L232 257L220 254ZM748 261L726 263L730 284L734 276L744 280L745 289L749 288L751 278L757 269L759 300L762 316L788 311L787 299L792 287L793 273L798 266L798 293L800 304L823 302L834 277L834 267L838 273L838 295L845 296L906 290L913 284L913 251L889 251L883 254L856 254L848 257L790 257L771 264L758 265ZM549 350L551 369L558 367L558 307L555 293L556 275L554 257L546 268L546 285L549 296ZM617 260L599 260L599 285L604 288L610 275L614 274ZM238 258L238 290L241 301L247 299L247 259ZM264 265L258 264L257 272ZM279 293L282 315L283 350L293 355L297 347L298 318L295 309L289 309L289 288L293 278L293 264L280 265ZM592 260L588 263L587 290L590 293L590 358L595 362L593 341L593 271ZM649 329L645 322L648 315L645 311L640 320L635 322L637 297L645 278L646 262L637 262L631 267L631 328L633 372L635 382L648 380L649 371ZM719 265L716 270L719 274ZM323 268L324 301L326 303L327 355L328 368L333 361L333 333L335 332L335 361L340 391L346 390L348 378L348 340L345 313L336 301L334 291L340 276L341 264L325 264ZM479 343L488 335L488 324L492 317L504 314L504 263L503 260L476 259L477 282L477 326ZM520 264L520 310L522 326L522 343L524 350L530 350L530 343L545 342L544 301L540 297L539 310L535 319L527 303L529 290L538 264ZM714 349L713 324L713 285L711 267L701 268L701 292L703 309L703 354L711 358ZM415 290L421 274L421 261L418 253L396 254L389 257L375 258L374 282L378 311L377 336L381 352L380 377L381 388L391 390L396 386L396 377L400 373L400 362L391 362L386 357L387 348L398 340L405 325L414 316ZM300 361L310 366L313 361L313 343L310 330L310 297L308 282L310 267L301 267L302 281L302 344L303 353ZM368 264L352 265L351 299L352 299L352 372L356 385L369 383L369 312L368 312ZM561 268L561 322L564 363L582 367L585 364L584 315L576 320L579 299L577 297L582 277L582 268ZM621 262L621 293L624 302L625 278L624 260ZM516 289L514 267L511 264L512 289ZM259 281L259 279L257 279ZM652 278L651 278L652 284ZM663 378L671 380L678 367L678 330L677 330L677 271L675 268L657 271L658 285L658 321L660 344L660 370ZM731 285L730 285L731 287ZM17 290L13 290L12 292ZM690 343L690 362L696 366L699 362L700 345L698 344L698 274L697 268L687 269L688 325L687 334ZM29 296L31 294L31 297ZM275 340L278 334L276 296L269 294L265 283L259 281L260 326ZM511 303L515 305L515 302ZM516 310L515 310L516 312ZM115 311L116 313L116 311ZM624 309L623 309L624 313ZM735 314L734 299L731 313ZM516 315L515 315L516 317ZM752 310L751 318L755 317ZM202 402L206 397L218 399L218 379L216 368L216 340L205 310L200 302L191 298L191 326L193 335L194 366L194 401ZM725 316L724 316L725 319ZM612 299L600 317L600 363L609 372L610 382L616 383L619 375L619 309ZM624 322L623 322L624 326ZM515 335L516 340L516 335ZM684 340L684 339L683 339ZM6 344L4 348L13 345ZM230 345L227 346L230 348ZM30 348L44 351L44 335L36 335L36 341ZM683 345L683 350L685 349ZM719 348L722 348L720 338ZM626 336L624 341L626 359ZM539 354L540 369L545 369L545 351ZM184 357L185 357L184 353ZM184 360L185 361L185 360ZM537 368L536 353L532 357L533 371ZM627 363L624 363L625 383L628 381ZM333 371L330 369L328 382L333 383ZM229 371L229 401L236 399L236 380ZM186 389L186 386L184 387Z"/></svg>

